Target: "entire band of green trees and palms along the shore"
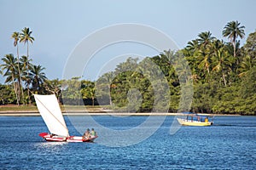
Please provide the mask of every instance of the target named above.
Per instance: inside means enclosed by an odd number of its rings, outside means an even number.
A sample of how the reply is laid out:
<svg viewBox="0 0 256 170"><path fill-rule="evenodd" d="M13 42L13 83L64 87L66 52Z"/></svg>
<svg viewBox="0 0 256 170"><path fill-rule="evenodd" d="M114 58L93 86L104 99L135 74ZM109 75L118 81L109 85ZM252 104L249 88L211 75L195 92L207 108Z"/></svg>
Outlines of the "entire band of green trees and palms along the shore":
<svg viewBox="0 0 256 170"><path fill-rule="evenodd" d="M193 82L191 111L256 115L256 31L248 35L241 47L239 38L245 37L244 28L238 21L231 21L222 32L230 42L212 37L210 31L205 31L181 50L166 50L143 60L129 58L96 82L79 77L48 80L44 67L32 65L28 58L29 42L34 38L32 31L24 28L21 33L12 35L16 57L6 54L2 59L6 81L0 86L0 103L30 104L33 102L30 95L38 93L56 94L65 105L108 105L112 109L133 112L157 111L167 106L170 112L176 112L178 108L186 111L186 105L179 105L179 101L181 79L183 75L189 75L184 82ZM27 44L27 54L21 58L19 42ZM180 56L187 60L190 74L178 69L182 62L177 64L175 61ZM167 93L154 77L161 75L167 82ZM158 105L155 100L160 101Z"/></svg>

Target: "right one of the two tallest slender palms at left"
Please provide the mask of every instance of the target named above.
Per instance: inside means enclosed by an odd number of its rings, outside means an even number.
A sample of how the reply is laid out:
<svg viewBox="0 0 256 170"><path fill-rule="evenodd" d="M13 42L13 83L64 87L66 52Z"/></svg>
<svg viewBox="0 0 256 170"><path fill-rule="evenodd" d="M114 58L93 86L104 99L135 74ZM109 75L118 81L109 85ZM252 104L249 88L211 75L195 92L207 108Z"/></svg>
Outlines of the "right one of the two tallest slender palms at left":
<svg viewBox="0 0 256 170"><path fill-rule="evenodd" d="M33 42L34 41L34 37L32 37L32 31L29 30L29 28L24 28L23 30L21 30L20 33L20 42L24 42L24 44L26 44L26 57L27 59L29 58L28 56L28 47L29 47L29 42ZM26 76L29 77L28 72L29 72L29 65L28 63L26 63ZM27 85L27 89L29 88L29 85ZM30 94L29 94L29 90L27 90L27 95L28 95L28 99L30 100Z"/></svg>

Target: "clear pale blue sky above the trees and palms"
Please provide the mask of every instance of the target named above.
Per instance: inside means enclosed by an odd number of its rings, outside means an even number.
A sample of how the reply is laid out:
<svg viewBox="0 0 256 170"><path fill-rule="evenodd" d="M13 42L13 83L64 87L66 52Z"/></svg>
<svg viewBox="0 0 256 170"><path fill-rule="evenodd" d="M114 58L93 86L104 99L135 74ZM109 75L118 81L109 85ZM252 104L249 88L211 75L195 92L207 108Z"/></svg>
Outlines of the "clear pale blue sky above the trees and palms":
<svg viewBox="0 0 256 170"><path fill-rule="evenodd" d="M0 0L0 57L16 54L10 37L24 27L29 27L35 38L29 57L34 65L45 67L49 79L62 79L69 56L84 37L123 23L151 26L184 48L202 31L229 41L222 37L223 28L238 20L246 27L243 44L247 35L256 31L255 7L254 0ZM20 55L26 55L26 46L21 43L19 47ZM159 52L134 43L117 44L97 53L81 76L94 80L104 70L102 65L124 54L143 57ZM3 80L0 76L0 82Z"/></svg>

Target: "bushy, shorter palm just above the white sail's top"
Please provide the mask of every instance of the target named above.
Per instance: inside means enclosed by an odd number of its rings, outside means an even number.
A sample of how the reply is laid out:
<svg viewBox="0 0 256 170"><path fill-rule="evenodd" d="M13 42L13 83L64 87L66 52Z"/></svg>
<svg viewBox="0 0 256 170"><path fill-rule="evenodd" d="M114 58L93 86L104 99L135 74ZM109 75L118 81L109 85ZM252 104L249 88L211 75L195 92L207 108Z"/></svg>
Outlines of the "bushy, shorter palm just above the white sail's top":
<svg viewBox="0 0 256 170"><path fill-rule="evenodd" d="M32 80L32 89L37 94L41 84L44 83L47 78L45 77L44 67L42 65L32 65L29 77Z"/></svg>

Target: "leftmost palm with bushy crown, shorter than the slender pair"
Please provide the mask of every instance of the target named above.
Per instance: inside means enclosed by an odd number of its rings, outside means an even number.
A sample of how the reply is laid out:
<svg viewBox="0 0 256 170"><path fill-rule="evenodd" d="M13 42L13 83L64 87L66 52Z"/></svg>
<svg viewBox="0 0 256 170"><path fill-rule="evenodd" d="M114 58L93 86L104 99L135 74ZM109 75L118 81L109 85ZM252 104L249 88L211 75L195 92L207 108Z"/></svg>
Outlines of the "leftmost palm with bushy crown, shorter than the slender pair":
<svg viewBox="0 0 256 170"><path fill-rule="evenodd" d="M18 79L17 77L17 59L14 57L13 54L6 54L4 56L3 60L3 65L1 65L2 70L5 70L5 73L3 74L4 77L6 77L5 83L12 82L14 85L14 90L15 90L15 96L17 99L17 105L20 105L20 99L17 94L17 85L16 85L16 80Z"/></svg>

